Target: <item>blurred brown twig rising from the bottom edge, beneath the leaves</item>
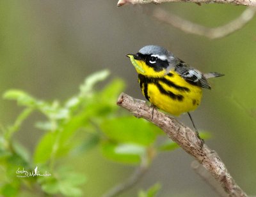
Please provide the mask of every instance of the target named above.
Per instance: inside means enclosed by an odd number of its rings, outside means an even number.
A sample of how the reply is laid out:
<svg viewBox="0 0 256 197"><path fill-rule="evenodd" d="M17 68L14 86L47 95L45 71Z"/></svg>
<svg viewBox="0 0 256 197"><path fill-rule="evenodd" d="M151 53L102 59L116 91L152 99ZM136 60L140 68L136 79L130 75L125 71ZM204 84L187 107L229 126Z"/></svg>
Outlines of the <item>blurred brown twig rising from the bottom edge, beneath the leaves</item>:
<svg viewBox="0 0 256 197"><path fill-rule="evenodd" d="M107 193L103 194L102 197L114 197L126 191L127 189L130 189L143 177L147 169L148 161L146 158L142 158L140 166L134 171L129 179L121 184L118 184L117 186L114 186Z"/></svg>

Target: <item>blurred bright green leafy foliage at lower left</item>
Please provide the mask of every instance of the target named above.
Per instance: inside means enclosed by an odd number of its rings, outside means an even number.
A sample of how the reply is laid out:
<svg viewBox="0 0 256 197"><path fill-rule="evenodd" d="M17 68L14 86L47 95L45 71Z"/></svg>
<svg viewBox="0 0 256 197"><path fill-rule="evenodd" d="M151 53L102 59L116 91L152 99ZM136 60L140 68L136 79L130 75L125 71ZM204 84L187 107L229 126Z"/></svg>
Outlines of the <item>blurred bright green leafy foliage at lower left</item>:
<svg viewBox="0 0 256 197"><path fill-rule="evenodd" d="M46 194L82 196L81 186L86 182L86 176L67 163L58 162L74 157L72 152L86 156L88 150L99 147L102 155L112 161L141 164L144 162L142 158L146 157L149 164L157 152L177 148L170 140L156 143L157 136L163 132L150 122L118 112L116 98L124 89L122 80L115 79L100 91L95 90L95 84L108 76L106 70L90 75L79 92L64 103L36 99L17 89L4 93L4 99L17 101L24 110L12 126L3 128L0 136L0 164L4 169L0 178L4 183L0 186L1 195L19 196L21 188L40 186ZM45 120L35 123L44 135L31 155L24 145L13 140L13 135L20 131L24 120L33 112L42 113ZM36 174L38 169L45 176ZM139 196L154 196L159 188L156 184L148 191L141 191Z"/></svg>

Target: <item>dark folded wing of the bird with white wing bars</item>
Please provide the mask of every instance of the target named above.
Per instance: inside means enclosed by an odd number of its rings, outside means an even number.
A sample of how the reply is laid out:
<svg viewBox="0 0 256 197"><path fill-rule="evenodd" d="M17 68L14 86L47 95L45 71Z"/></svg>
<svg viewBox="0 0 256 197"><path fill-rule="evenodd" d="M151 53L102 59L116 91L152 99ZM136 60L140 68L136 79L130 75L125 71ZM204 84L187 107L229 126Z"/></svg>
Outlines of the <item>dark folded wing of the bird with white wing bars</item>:
<svg viewBox="0 0 256 197"><path fill-rule="evenodd" d="M177 59L175 71L179 73L180 77L184 78L190 84L211 89L211 86L208 84L206 78L200 71L188 66L188 64L180 59Z"/></svg>

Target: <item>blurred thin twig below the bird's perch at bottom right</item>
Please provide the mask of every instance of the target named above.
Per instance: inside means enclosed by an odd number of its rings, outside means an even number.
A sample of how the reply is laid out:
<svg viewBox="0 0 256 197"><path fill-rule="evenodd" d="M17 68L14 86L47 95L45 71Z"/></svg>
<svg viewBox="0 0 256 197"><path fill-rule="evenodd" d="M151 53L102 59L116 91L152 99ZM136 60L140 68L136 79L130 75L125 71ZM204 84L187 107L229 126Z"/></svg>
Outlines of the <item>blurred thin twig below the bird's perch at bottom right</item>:
<svg viewBox="0 0 256 197"><path fill-rule="evenodd" d="M191 163L191 168L193 170L195 170L195 172L200 175L200 177L207 182L207 184L209 184L209 186L212 187L212 189L219 194L219 196L221 197L227 197L228 194L225 193L225 191L223 190L223 188L220 186L220 184L218 184L218 182L216 182L216 180L211 176L211 174L209 173L209 171L207 171L204 166L202 166L201 164L199 164L197 161L193 161Z"/></svg>

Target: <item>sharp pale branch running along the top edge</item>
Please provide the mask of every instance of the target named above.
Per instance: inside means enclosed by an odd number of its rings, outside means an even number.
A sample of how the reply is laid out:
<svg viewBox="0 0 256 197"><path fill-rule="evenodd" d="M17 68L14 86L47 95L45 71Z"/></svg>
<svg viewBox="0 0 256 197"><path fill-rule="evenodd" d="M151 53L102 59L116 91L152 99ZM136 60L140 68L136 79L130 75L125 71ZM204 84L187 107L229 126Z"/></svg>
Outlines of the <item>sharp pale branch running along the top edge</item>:
<svg viewBox="0 0 256 197"><path fill-rule="evenodd" d="M124 6L125 4L148 4L148 3L170 3L170 2L190 2L190 3L225 3L237 4L244 6L256 6L255 0L119 0L117 6Z"/></svg>

